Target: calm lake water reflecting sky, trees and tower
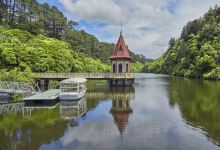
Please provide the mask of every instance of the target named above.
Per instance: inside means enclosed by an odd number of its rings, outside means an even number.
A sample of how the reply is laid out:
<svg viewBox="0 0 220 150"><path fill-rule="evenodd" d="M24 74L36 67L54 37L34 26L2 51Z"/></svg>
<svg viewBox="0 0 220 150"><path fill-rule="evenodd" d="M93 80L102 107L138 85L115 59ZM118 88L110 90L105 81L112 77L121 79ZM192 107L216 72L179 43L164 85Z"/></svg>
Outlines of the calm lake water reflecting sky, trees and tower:
<svg viewBox="0 0 220 150"><path fill-rule="evenodd" d="M217 81L138 74L133 87L92 84L78 102L21 107L1 112L2 150L220 149Z"/></svg>

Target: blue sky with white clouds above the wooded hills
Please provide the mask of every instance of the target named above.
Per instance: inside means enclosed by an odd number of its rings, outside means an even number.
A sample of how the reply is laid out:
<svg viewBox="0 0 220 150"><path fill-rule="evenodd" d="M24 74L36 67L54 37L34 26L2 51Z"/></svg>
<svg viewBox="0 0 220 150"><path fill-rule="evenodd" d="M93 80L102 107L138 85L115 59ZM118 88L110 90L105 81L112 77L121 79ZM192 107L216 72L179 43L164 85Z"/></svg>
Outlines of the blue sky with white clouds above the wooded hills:
<svg viewBox="0 0 220 150"><path fill-rule="evenodd" d="M57 6L78 29L116 43L122 30L129 49L147 58L166 52L187 22L202 17L220 0L38 0Z"/></svg>

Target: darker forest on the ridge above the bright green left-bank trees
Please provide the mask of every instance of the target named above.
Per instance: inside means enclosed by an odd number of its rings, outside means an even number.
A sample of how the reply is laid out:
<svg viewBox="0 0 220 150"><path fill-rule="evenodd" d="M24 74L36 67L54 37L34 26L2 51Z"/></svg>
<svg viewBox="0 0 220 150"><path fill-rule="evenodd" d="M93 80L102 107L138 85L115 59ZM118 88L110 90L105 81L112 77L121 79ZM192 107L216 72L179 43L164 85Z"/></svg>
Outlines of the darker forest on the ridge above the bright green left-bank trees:
<svg viewBox="0 0 220 150"><path fill-rule="evenodd" d="M76 30L77 22L67 20L61 11L37 0L0 0L0 24L13 29L27 30L70 43L71 48L92 58L109 63L113 44L99 42L93 35ZM144 62L143 55L130 52L133 62Z"/></svg>

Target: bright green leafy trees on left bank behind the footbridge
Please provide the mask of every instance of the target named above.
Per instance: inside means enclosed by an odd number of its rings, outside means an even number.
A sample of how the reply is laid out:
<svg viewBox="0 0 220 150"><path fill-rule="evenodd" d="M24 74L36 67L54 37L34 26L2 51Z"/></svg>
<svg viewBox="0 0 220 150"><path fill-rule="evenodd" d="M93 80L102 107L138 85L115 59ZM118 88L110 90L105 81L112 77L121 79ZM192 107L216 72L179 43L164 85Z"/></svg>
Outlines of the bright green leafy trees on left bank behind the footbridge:
<svg viewBox="0 0 220 150"><path fill-rule="evenodd" d="M32 82L31 72L109 71L99 59L72 51L64 41L0 26L1 80ZM4 72L4 73L3 73Z"/></svg>

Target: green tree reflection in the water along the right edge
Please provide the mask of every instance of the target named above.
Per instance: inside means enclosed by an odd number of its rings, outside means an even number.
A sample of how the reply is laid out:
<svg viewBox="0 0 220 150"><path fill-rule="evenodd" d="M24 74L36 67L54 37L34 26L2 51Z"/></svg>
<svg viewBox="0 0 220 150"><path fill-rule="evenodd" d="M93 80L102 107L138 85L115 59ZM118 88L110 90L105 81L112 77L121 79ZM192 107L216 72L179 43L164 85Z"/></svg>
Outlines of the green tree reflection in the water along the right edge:
<svg viewBox="0 0 220 150"><path fill-rule="evenodd" d="M220 144L220 82L172 78L168 91L170 105L178 104L189 124Z"/></svg>

